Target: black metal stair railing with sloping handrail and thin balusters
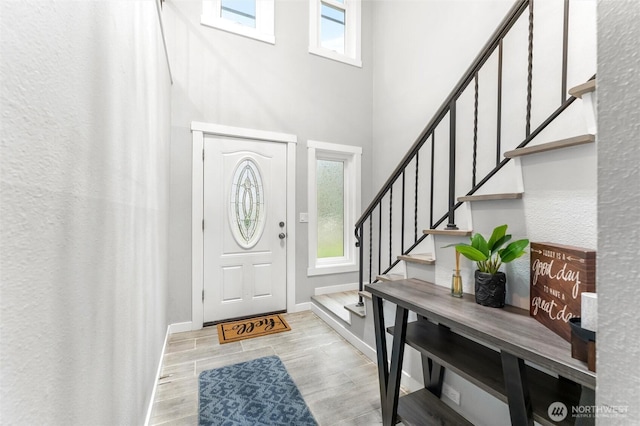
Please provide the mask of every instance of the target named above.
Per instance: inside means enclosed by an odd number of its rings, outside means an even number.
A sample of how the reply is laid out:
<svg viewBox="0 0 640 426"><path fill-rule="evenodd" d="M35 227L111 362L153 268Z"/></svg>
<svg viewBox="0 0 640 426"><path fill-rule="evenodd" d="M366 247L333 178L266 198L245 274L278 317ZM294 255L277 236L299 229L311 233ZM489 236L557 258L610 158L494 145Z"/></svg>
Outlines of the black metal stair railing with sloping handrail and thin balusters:
<svg viewBox="0 0 640 426"><path fill-rule="evenodd" d="M502 158L501 157L501 129L502 129L502 57L503 57L503 40L512 29L512 27L519 21L522 17L525 10L528 9L528 72L527 72L527 108L526 108L526 120L525 120L525 137L518 144L517 148L522 148L529 144L534 138L536 138L549 124L551 124L556 118L558 118L575 100L574 96L567 96L566 86L567 86L567 57L568 57L568 28L569 28L569 3L570 0L564 0L564 19L563 19L563 43L562 43L562 76L561 76L561 98L560 98L560 106L558 106L551 114L536 128L531 128L531 105L532 105L532 70L533 70L533 29L534 29L534 0L516 0L506 17L500 22L498 28L493 32L489 41L484 45L480 53L475 57L472 64L467 68L463 77L455 85L454 89L447 96L446 100L442 103L440 108L436 111L432 119L422 130L416 141L413 143L409 151L404 155L400 163L396 166L394 171L391 173L389 178L386 180L382 188L378 191L373 200L369 203L368 207L363 211L360 218L357 220L355 224L355 237L356 237L356 246L359 247L359 290L362 291L364 287L364 245L363 245L363 237L364 237L364 224L369 221L369 282L373 282L373 247L374 243L372 237L374 235L373 230L373 222L374 222L374 212L376 209L379 209L379 220L377 224L377 263L378 263L378 273L386 274L390 270L395 267L400 260L393 260L392 254L394 252L394 241L395 243L399 243L400 252L403 255L410 253L414 248L416 248L427 236L428 232L421 233L422 235L418 236L418 182L419 182L419 170L420 170L420 152L423 146L427 143L428 140L431 140L431 166L430 166L430 185L431 189L429 192L429 196L431 197L429 203L430 209L430 220L429 220L429 228L437 229L445 220L448 220L447 229L457 229L455 224L455 211L458 209L463 203L461 201L457 201L456 196L456 103L459 101L460 97L463 96L466 90L469 90L472 81L475 80L475 105L474 105L474 136L473 136L473 169L472 169L472 183L471 188L466 192L466 195L474 194L480 187L482 187L485 183L487 183L494 175L496 175L511 159L510 158ZM491 58L491 56L498 49L498 111L497 111L497 140L496 140L496 159L495 159L495 167L489 171L486 176L482 177L480 181L477 181L477 169L476 169L476 154L478 148L478 75L480 74L483 66L486 62ZM591 77L591 79L595 78L595 75ZM449 182L448 182L448 211L439 219L434 218L434 147L435 147L435 135L438 129L438 126L442 123L445 117L449 115ZM409 247L405 245L405 181L406 174L409 171L409 164L415 160L415 209L414 209L414 223L413 223L413 243L409 244ZM427 167L428 168L428 167ZM401 179L400 179L401 178ZM400 181L400 182L399 182ZM401 183L401 230L399 241L396 238L393 238L393 218L395 218L394 211L394 185ZM445 195L445 194L443 194ZM385 257L385 264L388 267L382 266L382 218L383 218L383 201L385 197L388 196L388 206L389 213L386 215L388 218L389 225L389 236L388 240L388 251L385 248L385 253L388 254L388 259ZM386 239L386 237L385 237ZM377 281L377 278L376 278ZM359 304L363 303L362 294L359 298Z"/></svg>

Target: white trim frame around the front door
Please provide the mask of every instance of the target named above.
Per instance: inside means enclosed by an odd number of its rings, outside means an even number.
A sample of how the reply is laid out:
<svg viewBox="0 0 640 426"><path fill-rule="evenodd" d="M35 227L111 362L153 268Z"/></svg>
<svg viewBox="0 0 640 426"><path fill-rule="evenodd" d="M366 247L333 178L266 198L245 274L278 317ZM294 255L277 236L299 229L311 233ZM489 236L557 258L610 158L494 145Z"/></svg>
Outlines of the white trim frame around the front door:
<svg viewBox="0 0 640 426"><path fill-rule="evenodd" d="M287 144L287 311L293 312L296 305L296 135L277 133L264 130L244 129L240 127L223 126L220 124L191 122L193 139L193 173L191 183L191 329L202 328L204 305L202 292L204 290L204 235L202 221L204 220L204 152L205 135L243 138L263 142L280 142Z"/></svg>

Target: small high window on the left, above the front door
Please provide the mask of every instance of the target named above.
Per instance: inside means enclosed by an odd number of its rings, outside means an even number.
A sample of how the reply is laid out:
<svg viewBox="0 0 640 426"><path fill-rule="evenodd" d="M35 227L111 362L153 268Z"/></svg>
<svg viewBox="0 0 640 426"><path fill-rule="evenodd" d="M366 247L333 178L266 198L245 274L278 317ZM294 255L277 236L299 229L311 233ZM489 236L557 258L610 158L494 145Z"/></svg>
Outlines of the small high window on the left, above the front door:
<svg viewBox="0 0 640 426"><path fill-rule="evenodd" d="M204 0L202 25L275 44L274 0Z"/></svg>

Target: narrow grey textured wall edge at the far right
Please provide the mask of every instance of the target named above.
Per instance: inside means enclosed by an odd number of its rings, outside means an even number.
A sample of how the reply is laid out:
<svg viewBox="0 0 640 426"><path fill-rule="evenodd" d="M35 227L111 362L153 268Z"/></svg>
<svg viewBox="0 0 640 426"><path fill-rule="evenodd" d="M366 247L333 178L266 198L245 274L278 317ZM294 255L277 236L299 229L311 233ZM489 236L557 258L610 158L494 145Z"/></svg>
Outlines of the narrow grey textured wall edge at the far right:
<svg viewBox="0 0 640 426"><path fill-rule="evenodd" d="M640 3L598 1L597 405L640 418Z"/></svg>

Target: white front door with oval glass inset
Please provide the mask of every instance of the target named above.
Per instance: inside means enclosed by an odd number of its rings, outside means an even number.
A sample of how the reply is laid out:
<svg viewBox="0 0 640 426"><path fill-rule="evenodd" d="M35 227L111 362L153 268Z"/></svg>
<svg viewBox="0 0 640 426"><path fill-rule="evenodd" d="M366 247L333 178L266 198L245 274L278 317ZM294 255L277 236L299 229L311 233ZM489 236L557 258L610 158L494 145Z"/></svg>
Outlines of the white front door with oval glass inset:
<svg viewBox="0 0 640 426"><path fill-rule="evenodd" d="M204 322L286 309L287 146L204 138Z"/></svg>

